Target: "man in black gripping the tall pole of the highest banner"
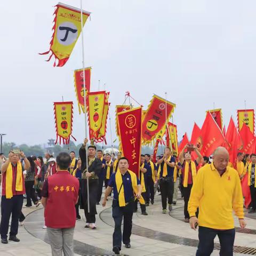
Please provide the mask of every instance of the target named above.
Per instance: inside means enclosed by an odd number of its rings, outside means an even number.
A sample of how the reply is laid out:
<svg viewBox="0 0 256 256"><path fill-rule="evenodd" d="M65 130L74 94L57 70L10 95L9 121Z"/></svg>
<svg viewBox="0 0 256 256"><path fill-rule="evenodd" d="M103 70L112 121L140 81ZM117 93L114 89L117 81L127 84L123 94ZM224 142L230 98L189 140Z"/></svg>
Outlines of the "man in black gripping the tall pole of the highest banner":
<svg viewBox="0 0 256 256"><path fill-rule="evenodd" d="M86 145L88 140L85 139L83 145L79 149L79 156L82 161L82 181L81 181L81 209L84 209L86 218L85 228L96 229L95 214L97 196L99 191L99 174L102 169L102 162L96 157L96 147L90 145L88 147L88 156L86 156ZM88 168L86 166L86 157L88 157ZM89 205L90 213L87 205L87 179L89 179Z"/></svg>

